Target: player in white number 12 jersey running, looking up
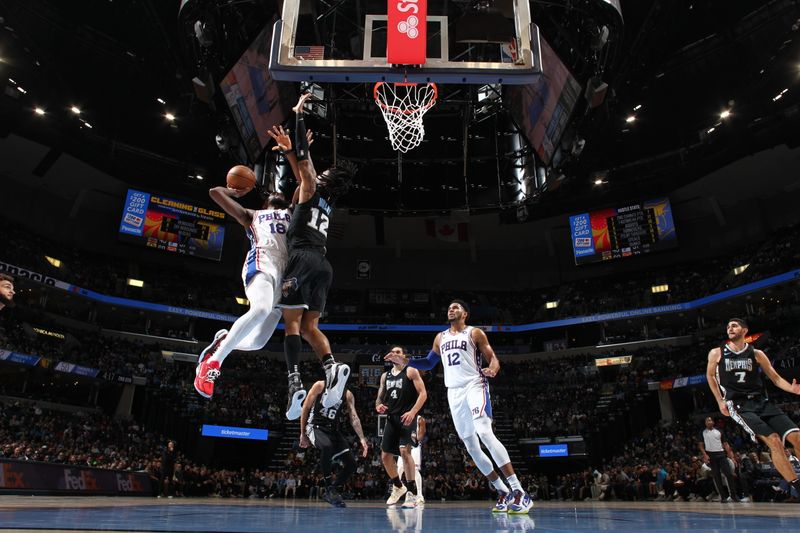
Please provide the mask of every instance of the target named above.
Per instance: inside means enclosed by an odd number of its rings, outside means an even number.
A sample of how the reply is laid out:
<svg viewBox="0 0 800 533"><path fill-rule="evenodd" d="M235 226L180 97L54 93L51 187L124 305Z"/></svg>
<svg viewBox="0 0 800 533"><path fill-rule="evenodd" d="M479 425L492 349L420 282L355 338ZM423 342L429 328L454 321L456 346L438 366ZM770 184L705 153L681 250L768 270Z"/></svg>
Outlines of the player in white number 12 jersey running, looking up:
<svg viewBox="0 0 800 533"><path fill-rule="evenodd" d="M492 431L492 404L487 378L497 375L500 361L489 345L486 333L467 325L468 315L469 306L466 302L453 300L447 308L450 328L436 335L428 357L409 360L408 357L390 352L384 359L408 364L419 370L430 370L439 362L442 363L447 402L456 432L475 461L475 466L498 491L499 497L492 511L526 514L533 507L533 501L514 473L505 446ZM481 368L481 355L489 363L488 367ZM510 489L481 450L481 442L500 466Z"/></svg>

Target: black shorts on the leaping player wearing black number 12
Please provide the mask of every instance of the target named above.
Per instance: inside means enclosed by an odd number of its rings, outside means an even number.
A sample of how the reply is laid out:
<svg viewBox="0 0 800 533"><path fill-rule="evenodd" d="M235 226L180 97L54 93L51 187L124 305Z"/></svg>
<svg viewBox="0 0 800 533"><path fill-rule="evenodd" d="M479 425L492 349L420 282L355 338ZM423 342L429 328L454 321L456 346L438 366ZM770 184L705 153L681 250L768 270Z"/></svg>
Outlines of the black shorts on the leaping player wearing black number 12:
<svg viewBox="0 0 800 533"><path fill-rule="evenodd" d="M308 309L322 314L331 283L333 269L324 254L302 248L293 250L283 273L278 307Z"/></svg>

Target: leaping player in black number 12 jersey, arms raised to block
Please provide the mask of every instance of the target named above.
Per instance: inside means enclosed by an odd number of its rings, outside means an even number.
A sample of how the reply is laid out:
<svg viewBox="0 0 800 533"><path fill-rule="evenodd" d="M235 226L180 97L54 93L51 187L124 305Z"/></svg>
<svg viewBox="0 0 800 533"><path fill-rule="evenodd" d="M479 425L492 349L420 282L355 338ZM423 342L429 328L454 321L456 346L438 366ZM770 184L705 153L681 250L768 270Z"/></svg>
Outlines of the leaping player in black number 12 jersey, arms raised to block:
<svg viewBox="0 0 800 533"><path fill-rule="evenodd" d="M302 342L300 335L317 354L325 369L325 393L322 404L331 407L341 400L350 376L350 367L333 359L328 338L319 329L319 318L325 310L328 290L333 281L333 270L325 257L333 204L345 194L350 186L352 170L344 166L333 166L317 176L308 151L309 141L303 119L303 104L310 94L300 97L294 111L297 115L294 153L287 157L297 158L300 183L289 231L289 262L283 274L281 301L283 321L286 327L284 350L289 374L289 402L286 418L295 420L306 391L298 371ZM285 137L282 128L273 128L270 136L278 148L288 152L292 147L282 143ZM288 138L287 138L288 139Z"/></svg>

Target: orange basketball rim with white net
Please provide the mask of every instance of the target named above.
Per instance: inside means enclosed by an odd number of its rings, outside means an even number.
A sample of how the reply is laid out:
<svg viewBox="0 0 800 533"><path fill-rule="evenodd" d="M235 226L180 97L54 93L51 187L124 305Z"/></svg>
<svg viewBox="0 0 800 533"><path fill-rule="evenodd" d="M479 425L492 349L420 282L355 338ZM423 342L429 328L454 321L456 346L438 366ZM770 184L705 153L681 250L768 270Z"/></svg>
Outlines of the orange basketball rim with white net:
<svg viewBox="0 0 800 533"><path fill-rule="evenodd" d="M425 137L422 117L439 95L436 84L379 81L373 94L389 128L392 148L405 153L419 146Z"/></svg>

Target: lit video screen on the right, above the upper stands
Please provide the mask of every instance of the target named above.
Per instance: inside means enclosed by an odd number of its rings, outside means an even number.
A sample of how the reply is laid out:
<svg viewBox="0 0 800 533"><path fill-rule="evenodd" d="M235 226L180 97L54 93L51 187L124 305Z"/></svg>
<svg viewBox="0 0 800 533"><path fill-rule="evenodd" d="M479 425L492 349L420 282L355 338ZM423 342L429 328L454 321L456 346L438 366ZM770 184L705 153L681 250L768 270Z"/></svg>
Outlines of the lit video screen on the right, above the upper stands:
<svg viewBox="0 0 800 533"><path fill-rule="evenodd" d="M569 227L576 265L678 246L668 198L573 215Z"/></svg>

